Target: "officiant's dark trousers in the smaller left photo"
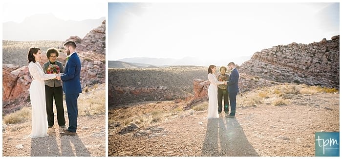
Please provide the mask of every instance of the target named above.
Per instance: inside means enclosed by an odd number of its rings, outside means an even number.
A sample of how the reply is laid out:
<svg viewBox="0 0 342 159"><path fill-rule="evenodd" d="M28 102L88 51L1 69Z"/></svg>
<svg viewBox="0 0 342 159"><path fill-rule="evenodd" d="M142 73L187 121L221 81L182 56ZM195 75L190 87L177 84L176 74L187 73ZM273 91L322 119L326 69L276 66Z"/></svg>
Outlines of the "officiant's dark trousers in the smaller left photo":
<svg viewBox="0 0 342 159"><path fill-rule="evenodd" d="M64 107L63 107L63 89L61 87L49 87L45 85L45 102L47 123L53 126L55 114L53 113L53 99L55 99L57 121L59 126L65 125Z"/></svg>

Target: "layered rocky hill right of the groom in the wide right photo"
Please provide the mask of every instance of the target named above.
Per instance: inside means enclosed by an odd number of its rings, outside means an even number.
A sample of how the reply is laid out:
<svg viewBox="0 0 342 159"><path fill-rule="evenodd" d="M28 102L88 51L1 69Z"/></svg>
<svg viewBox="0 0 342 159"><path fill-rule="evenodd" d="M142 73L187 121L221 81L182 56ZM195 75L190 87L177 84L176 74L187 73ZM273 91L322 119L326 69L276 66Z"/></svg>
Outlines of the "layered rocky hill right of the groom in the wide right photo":
<svg viewBox="0 0 342 159"><path fill-rule="evenodd" d="M291 43L256 52L240 72L260 79L340 87L340 35L310 44Z"/></svg>

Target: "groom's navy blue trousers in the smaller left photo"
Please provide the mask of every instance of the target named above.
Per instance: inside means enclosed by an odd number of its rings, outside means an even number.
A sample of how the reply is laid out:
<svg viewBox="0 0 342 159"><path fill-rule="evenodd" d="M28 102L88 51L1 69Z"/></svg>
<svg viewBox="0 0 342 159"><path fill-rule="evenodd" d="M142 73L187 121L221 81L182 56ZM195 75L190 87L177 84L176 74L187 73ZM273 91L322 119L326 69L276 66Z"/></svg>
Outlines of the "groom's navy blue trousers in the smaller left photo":
<svg viewBox="0 0 342 159"><path fill-rule="evenodd" d="M68 111L68 118L69 118L68 130L73 133L76 133L76 129L77 129L77 116L78 116L77 99L79 95L80 95L79 93L78 94L65 94L66 109Z"/></svg>

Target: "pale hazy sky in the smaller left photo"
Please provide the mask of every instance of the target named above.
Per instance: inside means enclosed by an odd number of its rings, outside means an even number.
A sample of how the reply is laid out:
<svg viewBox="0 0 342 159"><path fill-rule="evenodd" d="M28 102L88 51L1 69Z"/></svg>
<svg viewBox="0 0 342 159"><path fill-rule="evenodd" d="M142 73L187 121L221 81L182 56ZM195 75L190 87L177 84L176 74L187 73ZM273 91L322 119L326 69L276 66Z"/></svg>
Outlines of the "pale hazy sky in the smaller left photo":
<svg viewBox="0 0 342 159"><path fill-rule="evenodd" d="M107 0L1 0L2 22L52 13L62 20L99 19L107 16ZM70 13L73 15L70 16Z"/></svg>

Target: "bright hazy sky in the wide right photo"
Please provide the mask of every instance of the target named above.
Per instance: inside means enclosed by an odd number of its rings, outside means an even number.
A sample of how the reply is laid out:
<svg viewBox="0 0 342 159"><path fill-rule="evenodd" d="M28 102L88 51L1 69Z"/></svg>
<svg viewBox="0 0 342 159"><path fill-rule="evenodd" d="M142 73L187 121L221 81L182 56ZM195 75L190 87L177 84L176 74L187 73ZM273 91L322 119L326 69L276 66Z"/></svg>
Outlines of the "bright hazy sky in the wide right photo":
<svg viewBox="0 0 342 159"><path fill-rule="evenodd" d="M109 3L107 59L252 56L340 34L339 3Z"/></svg>

